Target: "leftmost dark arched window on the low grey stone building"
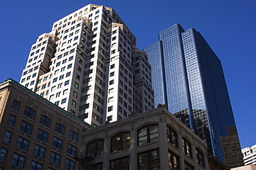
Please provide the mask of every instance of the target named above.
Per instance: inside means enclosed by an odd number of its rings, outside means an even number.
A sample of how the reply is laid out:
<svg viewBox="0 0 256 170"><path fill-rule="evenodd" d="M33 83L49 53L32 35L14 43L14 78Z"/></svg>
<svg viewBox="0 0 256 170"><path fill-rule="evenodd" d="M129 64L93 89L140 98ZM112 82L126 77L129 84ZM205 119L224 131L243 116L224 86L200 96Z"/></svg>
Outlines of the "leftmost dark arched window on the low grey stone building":
<svg viewBox="0 0 256 170"><path fill-rule="evenodd" d="M86 145L86 157L101 156L104 152L104 140L95 140Z"/></svg>

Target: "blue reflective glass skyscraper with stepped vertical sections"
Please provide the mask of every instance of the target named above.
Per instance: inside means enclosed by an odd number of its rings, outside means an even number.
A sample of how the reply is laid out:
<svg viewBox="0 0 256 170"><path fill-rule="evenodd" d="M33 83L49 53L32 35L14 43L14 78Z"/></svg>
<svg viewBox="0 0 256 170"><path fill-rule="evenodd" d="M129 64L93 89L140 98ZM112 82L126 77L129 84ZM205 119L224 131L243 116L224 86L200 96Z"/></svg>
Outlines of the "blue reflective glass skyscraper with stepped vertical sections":
<svg viewBox="0 0 256 170"><path fill-rule="evenodd" d="M240 144L221 62L201 34L193 28L185 31L176 24L160 32L158 41L144 50L152 65L155 104L166 104L171 113L208 140L210 154L228 167L241 166Z"/></svg>

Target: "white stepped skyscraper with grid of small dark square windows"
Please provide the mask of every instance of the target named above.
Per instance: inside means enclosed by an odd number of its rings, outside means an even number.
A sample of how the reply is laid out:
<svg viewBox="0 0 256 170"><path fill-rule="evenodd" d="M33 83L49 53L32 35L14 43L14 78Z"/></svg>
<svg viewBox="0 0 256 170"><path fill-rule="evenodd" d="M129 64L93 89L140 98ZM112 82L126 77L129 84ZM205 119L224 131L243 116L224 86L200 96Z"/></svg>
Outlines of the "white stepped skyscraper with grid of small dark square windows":
<svg viewBox="0 0 256 170"><path fill-rule="evenodd" d="M93 126L154 108L147 55L104 6L84 6L39 35L20 83Z"/></svg>

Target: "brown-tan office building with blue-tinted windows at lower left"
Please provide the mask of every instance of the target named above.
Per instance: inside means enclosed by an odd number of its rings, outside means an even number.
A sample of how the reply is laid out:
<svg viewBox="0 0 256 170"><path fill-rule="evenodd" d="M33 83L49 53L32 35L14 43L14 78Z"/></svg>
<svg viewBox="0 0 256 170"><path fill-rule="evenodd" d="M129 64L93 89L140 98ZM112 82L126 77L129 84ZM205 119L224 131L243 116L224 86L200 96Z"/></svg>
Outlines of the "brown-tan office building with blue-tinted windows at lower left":
<svg viewBox="0 0 256 170"><path fill-rule="evenodd" d="M78 169L92 126L12 79L0 84L0 169Z"/></svg>

